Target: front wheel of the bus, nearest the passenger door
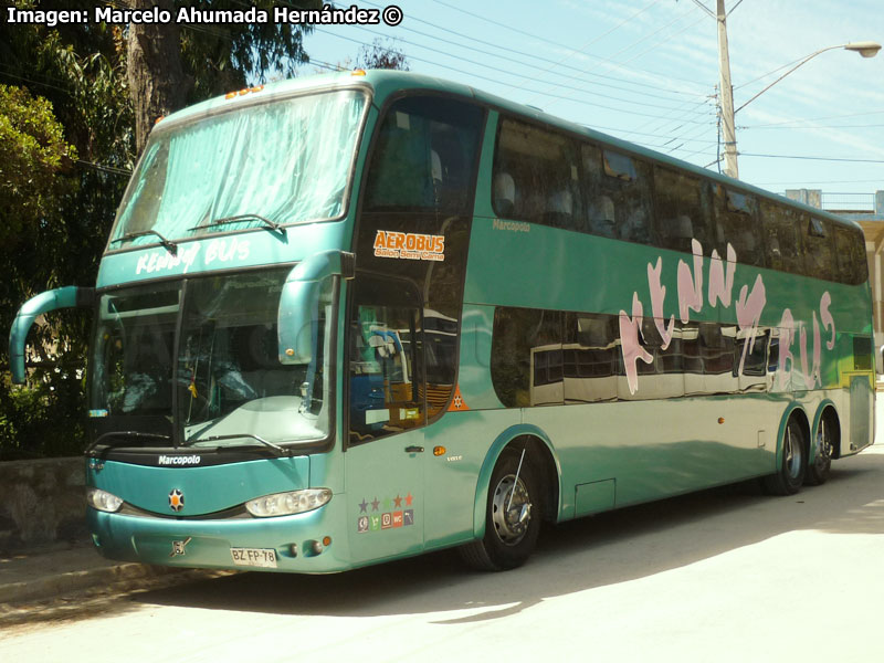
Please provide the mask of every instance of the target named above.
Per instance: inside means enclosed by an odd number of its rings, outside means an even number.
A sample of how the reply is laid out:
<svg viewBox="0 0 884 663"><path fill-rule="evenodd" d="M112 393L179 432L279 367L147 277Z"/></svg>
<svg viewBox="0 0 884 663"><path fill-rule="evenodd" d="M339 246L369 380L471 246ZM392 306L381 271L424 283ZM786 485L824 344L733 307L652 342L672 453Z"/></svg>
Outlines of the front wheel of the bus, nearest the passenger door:
<svg viewBox="0 0 884 663"><path fill-rule="evenodd" d="M485 536L460 548L461 557L475 569L505 571L519 567L537 543L543 514L540 483L530 457L525 454L519 469L520 457L520 451L501 455L488 484Z"/></svg>

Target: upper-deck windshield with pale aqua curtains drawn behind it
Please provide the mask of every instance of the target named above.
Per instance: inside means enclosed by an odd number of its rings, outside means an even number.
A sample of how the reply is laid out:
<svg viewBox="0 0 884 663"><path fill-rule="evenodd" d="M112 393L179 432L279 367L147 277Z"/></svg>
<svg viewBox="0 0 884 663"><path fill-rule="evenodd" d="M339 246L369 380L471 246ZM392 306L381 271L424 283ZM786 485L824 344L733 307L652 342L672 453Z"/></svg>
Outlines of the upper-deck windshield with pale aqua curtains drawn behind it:
<svg viewBox="0 0 884 663"><path fill-rule="evenodd" d="M365 93L344 90L160 125L110 249L340 217L365 105Z"/></svg>

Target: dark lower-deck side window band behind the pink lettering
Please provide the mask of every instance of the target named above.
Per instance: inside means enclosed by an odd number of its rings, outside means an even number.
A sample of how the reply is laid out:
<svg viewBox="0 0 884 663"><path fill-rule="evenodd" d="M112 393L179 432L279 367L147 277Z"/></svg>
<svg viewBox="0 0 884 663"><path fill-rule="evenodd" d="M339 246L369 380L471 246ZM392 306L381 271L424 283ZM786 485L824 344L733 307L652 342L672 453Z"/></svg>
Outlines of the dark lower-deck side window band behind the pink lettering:
<svg viewBox="0 0 884 663"><path fill-rule="evenodd" d="M750 336L735 325L686 323L664 343L655 320L645 318L640 338L648 360L638 361L633 393L618 316L497 307L492 382L507 408L764 391L778 366L775 332Z"/></svg>

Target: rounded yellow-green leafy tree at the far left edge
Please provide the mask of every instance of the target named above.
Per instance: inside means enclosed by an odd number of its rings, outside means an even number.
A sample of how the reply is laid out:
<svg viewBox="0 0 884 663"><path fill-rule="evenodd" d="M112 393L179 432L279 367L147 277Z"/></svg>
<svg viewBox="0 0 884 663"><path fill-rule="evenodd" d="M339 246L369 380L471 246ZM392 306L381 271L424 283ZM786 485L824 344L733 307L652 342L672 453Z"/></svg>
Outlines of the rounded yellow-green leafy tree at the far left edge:
<svg viewBox="0 0 884 663"><path fill-rule="evenodd" d="M4 328L36 284L52 283L67 262L64 253L76 251L78 244L75 241L65 250L69 240L80 239L64 230L65 210L71 209L80 182L73 168L77 152L63 133L45 98L0 84L0 260L6 272L0 324ZM42 361L31 387L0 391L0 459L66 453L72 440L81 446L82 375L76 367L82 366L83 344L76 339L84 320L80 318L53 317L50 325L34 329L32 347ZM7 364L6 348L0 357ZM75 366L56 361L65 357L74 358Z"/></svg>

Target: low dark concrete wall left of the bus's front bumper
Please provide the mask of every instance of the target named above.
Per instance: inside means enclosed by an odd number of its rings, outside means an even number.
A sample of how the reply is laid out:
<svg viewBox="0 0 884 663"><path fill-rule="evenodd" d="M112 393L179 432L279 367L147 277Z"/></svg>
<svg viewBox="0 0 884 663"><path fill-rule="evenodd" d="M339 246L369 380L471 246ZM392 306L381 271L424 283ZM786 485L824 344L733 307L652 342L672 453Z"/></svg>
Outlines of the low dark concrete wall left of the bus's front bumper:
<svg viewBox="0 0 884 663"><path fill-rule="evenodd" d="M0 463L0 551L86 540L83 456Z"/></svg>

